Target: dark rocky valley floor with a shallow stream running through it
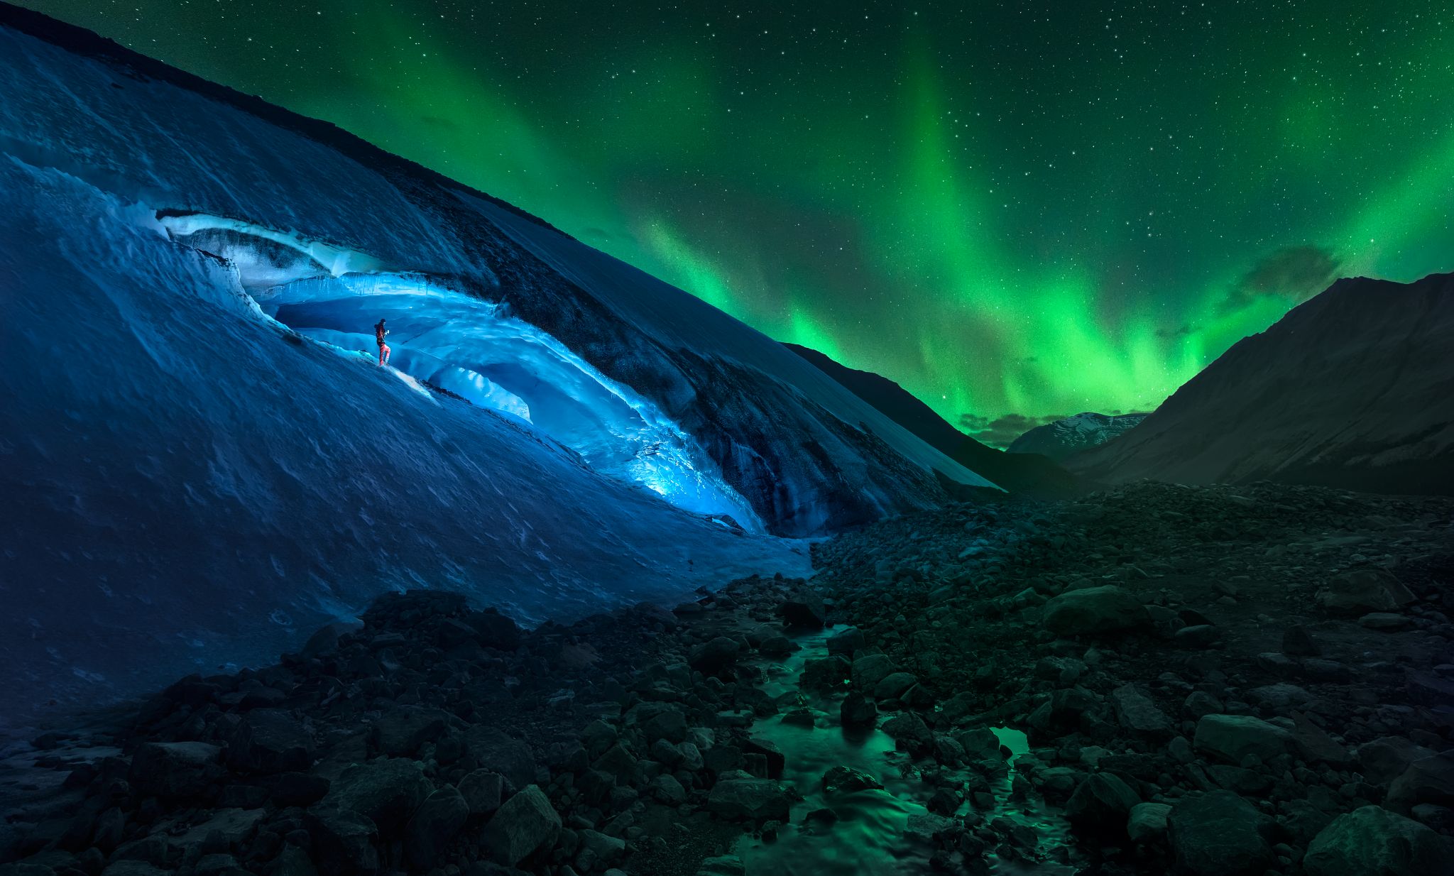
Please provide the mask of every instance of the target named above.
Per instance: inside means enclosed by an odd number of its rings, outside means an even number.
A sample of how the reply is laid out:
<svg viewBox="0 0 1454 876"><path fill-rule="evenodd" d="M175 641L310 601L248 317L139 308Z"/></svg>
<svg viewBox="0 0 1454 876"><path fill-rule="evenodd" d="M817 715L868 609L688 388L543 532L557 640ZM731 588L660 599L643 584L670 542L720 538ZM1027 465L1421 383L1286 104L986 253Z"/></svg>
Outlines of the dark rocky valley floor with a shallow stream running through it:
<svg viewBox="0 0 1454 876"><path fill-rule="evenodd" d="M9 751L0 875L1451 873L1451 522L1138 484L571 626L395 594Z"/></svg>

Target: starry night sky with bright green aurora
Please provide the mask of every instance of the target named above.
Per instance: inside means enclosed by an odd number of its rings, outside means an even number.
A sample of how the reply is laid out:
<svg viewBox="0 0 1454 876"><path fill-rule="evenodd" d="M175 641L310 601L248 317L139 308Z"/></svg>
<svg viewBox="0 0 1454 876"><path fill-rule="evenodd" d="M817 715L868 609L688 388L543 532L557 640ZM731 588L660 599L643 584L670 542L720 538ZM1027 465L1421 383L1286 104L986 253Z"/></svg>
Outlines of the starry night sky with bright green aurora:
<svg viewBox="0 0 1454 876"><path fill-rule="evenodd" d="M990 442L1150 410L1336 276L1454 270L1448 0L28 4Z"/></svg>

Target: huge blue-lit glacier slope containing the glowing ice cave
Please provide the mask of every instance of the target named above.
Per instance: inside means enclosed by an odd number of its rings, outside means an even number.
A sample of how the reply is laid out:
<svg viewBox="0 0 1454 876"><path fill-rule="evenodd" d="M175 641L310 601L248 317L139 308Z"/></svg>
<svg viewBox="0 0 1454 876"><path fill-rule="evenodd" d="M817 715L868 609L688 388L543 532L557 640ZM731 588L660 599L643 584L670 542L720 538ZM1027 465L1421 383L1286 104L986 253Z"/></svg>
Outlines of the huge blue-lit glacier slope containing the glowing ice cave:
<svg viewBox="0 0 1454 876"><path fill-rule="evenodd" d="M0 302L9 722L387 590L531 623L806 575L990 485L534 216L3 4Z"/></svg>

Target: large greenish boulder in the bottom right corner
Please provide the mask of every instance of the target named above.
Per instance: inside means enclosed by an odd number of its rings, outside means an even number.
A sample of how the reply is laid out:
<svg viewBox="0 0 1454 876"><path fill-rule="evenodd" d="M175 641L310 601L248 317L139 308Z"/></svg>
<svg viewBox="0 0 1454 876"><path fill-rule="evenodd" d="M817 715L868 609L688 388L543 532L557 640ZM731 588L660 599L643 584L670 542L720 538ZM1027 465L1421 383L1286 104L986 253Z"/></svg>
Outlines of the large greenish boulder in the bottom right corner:
<svg viewBox="0 0 1454 876"><path fill-rule="evenodd" d="M1307 876L1438 876L1450 873L1447 843L1422 824L1380 806L1333 819L1307 845Z"/></svg>

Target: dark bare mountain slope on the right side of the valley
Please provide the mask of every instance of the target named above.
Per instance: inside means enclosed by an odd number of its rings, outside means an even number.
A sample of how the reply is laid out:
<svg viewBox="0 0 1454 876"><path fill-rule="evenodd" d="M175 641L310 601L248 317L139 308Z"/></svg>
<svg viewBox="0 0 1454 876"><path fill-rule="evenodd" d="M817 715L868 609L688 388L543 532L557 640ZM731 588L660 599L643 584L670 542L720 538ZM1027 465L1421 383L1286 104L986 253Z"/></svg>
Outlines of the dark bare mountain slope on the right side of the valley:
<svg viewBox="0 0 1454 876"><path fill-rule="evenodd" d="M1454 275L1338 280L1069 465L1101 482L1454 492Z"/></svg>

